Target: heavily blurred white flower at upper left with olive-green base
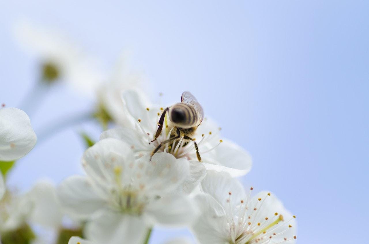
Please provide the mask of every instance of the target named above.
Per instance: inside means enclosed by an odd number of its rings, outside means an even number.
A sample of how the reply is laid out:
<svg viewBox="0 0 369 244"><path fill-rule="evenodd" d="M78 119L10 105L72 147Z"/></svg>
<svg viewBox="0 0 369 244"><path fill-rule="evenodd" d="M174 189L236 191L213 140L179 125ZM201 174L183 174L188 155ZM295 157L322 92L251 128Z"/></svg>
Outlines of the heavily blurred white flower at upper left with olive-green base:
<svg viewBox="0 0 369 244"><path fill-rule="evenodd" d="M41 62L43 79L48 82L61 79L77 91L94 95L103 73L96 60L88 57L64 35L23 21L15 25L15 37Z"/></svg>

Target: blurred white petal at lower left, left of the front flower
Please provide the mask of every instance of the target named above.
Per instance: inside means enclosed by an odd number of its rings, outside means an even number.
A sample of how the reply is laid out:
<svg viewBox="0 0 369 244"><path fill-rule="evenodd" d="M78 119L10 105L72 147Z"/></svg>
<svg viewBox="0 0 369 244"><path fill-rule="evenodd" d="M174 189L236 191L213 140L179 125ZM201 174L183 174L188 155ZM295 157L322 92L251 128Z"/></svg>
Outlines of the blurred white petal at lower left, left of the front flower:
<svg viewBox="0 0 369 244"><path fill-rule="evenodd" d="M30 220L44 227L58 228L62 224L63 211L51 182L39 181L28 192L33 203Z"/></svg>

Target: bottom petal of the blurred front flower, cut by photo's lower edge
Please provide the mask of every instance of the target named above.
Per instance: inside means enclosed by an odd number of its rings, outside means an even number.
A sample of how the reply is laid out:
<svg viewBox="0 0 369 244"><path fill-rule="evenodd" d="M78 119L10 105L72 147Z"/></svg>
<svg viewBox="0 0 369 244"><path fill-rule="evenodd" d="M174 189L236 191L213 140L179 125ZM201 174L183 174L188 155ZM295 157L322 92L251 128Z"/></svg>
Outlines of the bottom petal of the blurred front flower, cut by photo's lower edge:
<svg viewBox="0 0 369 244"><path fill-rule="evenodd" d="M148 227L139 217L104 210L87 223L85 234L96 243L142 244L147 231Z"/></svg>

